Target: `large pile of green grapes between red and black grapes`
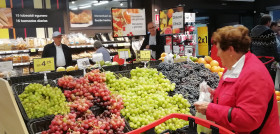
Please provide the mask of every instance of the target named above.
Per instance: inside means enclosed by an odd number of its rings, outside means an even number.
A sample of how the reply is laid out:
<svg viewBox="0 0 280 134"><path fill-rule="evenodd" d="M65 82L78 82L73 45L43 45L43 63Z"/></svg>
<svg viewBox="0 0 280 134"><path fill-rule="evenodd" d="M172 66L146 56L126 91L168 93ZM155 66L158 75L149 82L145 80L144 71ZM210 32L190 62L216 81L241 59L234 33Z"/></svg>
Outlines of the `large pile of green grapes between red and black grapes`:
<svg viewBox="0 0 280 134"><path fill-rule="evenodd" d="M106 72L107 86L114 94L123 98L125 108L121 114L133 128L140 128L171 113L190 115L190 104L182 95L169 96L167 92L175 89L175 83L165 79L156 69L136 68L131 77L117 78L113 72ZM180 119L171 119L155 127L160 133L164 130L176 130L187 125Z"/></svg>

